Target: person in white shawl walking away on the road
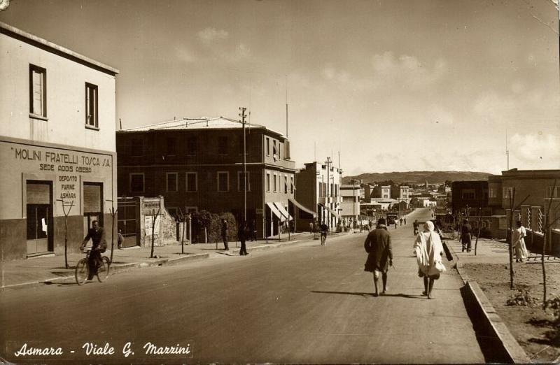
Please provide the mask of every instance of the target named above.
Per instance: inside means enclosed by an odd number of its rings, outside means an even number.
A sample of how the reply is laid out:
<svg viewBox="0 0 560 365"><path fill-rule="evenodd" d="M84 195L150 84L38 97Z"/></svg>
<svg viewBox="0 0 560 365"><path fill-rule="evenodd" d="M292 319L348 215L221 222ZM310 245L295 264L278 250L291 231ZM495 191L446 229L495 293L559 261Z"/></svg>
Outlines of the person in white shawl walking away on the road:
<svg viewBox="0 0 560 365"><path fill-rule="evenodd" d="M418 276L424 281L422 294L428 296L428 299L433 299L434 281L440 278L440 273L446 271L442 263L442 241L434 231L433 222L426 222L423 225L423 232L416 236L414 252L418 263Z"/></svg>

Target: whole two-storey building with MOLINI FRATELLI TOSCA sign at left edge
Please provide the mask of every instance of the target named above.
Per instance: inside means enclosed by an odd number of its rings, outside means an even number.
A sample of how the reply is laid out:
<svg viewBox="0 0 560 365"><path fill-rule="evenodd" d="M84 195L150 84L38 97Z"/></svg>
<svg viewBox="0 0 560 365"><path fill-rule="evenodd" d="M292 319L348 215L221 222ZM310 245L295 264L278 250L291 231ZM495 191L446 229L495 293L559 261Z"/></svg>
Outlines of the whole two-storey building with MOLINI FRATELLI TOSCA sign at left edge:
<svg viewBox="0 0 560 365"><path fill-rule="evenodd" d="M77 251L116 207L118 70L0 22L0 248ZM109 201L109 202L108 202Z"/></svg>

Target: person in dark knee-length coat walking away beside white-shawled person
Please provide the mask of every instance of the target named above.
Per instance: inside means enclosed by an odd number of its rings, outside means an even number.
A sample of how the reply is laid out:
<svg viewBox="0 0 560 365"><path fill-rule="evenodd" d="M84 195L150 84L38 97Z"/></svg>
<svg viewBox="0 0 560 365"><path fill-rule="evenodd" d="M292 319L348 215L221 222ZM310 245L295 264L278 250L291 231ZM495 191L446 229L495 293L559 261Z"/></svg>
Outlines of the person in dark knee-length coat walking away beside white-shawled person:
<svg viewBox="0 0 560 365"><path fill-rule="evenodd" d="M367 235L363 247L365 252L367 252L364 270L373 273L374 296L379 295L377 289L379 273L381 273L383 280L383 292L381 294L385 294L387 291L387 271L389 266L393 266L393 248L391 247L391 234L387 231L384 218L379 218L377 227Z"/></svg>

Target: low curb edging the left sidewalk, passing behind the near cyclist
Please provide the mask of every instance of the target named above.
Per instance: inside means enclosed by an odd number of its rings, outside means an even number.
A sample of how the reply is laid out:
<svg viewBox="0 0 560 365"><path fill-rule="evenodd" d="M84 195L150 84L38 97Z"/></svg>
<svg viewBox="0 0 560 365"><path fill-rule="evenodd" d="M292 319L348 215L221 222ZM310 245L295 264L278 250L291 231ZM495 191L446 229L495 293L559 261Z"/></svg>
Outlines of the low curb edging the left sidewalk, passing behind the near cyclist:
<svg viewBox="0 0 560 365"><path fill-rule="evenodd" d="M207 253L192 254L192 255L174 257L172 259L169 258L155 259L149 262L130 262L128 264L115 264L115 266L111 266L111 271L109 275L130 271L132 269L143 269L152 266L178 265L178 264L182 264L183 262L196 261L199 259L207 259L209 256L210 255ZM31 282L22 282L21 284L5 285L3 287L0 287L0 292L7 291L7 290L26 289L29 287L39 287L42 285L57 284L59 282L66 282L66 280L73 280L73 279L74 279L74 275L66 275L66 276L57 276L56 278L50 278L41 281L31 281Z"/></svg>

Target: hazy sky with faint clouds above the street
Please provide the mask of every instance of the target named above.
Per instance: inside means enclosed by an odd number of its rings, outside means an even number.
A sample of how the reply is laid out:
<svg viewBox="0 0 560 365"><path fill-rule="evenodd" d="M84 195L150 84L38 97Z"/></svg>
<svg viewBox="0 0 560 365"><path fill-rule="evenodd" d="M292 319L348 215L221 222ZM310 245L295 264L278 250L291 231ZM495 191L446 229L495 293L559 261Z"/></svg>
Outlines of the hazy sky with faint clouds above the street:
<svg viewBox="0 0 560 365"><path fill-rule="evenodd" d="M344 176L560 169L552 0L11 0L0 21L120 70L123 128L230 117ZM288 129L286 131L286 102Z"/></svg>

